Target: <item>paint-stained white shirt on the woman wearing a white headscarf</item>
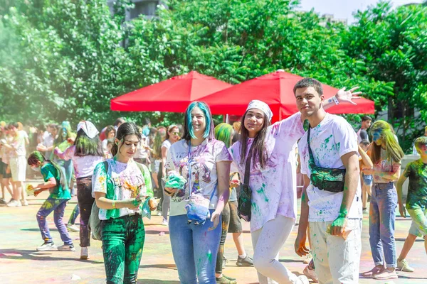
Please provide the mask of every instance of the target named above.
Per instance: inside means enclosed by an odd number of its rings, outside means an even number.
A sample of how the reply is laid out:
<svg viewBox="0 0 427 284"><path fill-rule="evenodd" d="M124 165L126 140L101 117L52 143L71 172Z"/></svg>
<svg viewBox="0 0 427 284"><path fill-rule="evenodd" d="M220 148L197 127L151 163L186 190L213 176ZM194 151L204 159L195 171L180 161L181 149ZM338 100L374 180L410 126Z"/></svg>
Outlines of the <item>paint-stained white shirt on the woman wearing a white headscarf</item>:
<svg viewBox="0 0 427 284"><path fill-rule="evenodd" d="M295 148L297 140L304 134L300 113L276 122L268 127L265 136L267 165L260 168L255 161L251 167L249 187L252 190L251 231L261 229L264 224L279 214L296 219L296 170ZM253 143L248 139L246 156ZM231 146L230 152L238 166L241 178L245 176L245 164L241 164L241 143Z"/></svg>

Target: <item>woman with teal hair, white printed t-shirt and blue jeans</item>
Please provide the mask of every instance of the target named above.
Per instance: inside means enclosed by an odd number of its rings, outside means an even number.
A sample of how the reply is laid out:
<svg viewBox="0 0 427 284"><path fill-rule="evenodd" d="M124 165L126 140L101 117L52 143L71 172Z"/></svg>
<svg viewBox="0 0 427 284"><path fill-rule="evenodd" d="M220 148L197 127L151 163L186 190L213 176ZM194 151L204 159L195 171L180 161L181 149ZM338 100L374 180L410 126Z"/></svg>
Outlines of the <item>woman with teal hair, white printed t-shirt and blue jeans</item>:
<svg viewBox="0 0 427 284"><path fill-rule="evenodd" d="M179 280L216 283L221 212L228 201L231 156L214 136L214 121L204 102L185 111L184 136L168 151L166 169L186 180L183 188L165 187L172 197L169 234ZM199 281L199 282L198 282Z"/></svg>

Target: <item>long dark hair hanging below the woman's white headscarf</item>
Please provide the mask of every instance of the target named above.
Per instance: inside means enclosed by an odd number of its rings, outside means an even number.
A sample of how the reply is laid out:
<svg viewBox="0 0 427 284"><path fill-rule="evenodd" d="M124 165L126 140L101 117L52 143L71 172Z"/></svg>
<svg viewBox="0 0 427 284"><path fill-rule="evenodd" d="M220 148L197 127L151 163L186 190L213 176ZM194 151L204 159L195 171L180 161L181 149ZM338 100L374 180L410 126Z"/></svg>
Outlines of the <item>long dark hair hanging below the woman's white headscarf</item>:
<svg viewBox="0 0 427 284"><path fill-rule="evenodd" d="M245 112L245 114L241 118L241 165L245 165L246 163L246 151L248 151L248 138L249 131L245 127L245 118L249 109ZM255 161L259 160L261 168L265 168L265 164L267 163L267 153L265 151L265 136L267 135L267 129L270 126L270 120L266 114L264 114L264 123L261 130L256 134L255 139L252 143L252 163L255 165Z"/></svg>

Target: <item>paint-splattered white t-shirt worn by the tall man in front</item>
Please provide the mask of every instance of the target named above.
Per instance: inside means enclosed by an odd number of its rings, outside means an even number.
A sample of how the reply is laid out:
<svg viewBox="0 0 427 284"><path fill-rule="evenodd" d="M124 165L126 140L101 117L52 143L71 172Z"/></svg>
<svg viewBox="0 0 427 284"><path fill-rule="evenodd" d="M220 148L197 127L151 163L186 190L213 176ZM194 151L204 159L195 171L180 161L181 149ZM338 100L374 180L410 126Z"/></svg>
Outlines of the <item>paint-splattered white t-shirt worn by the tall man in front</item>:
<svg viewBox="0 0 427 284"><path fill-rule="evenodd" d="M307 148L307 132L298 143L301 160L301 173L310 178L308 162L310 154ZM341 157L347 153L358 153L357 134L352 126L341 116L326 114L319 125L310 130L310 148L315 164L322 168L344 168ZM362 219L362 198L360 179L356 195L350 207L349 219ZM307 187L309 222L330 222L337 219L341 207L343 192L319 190L310 182Z"/></svg>

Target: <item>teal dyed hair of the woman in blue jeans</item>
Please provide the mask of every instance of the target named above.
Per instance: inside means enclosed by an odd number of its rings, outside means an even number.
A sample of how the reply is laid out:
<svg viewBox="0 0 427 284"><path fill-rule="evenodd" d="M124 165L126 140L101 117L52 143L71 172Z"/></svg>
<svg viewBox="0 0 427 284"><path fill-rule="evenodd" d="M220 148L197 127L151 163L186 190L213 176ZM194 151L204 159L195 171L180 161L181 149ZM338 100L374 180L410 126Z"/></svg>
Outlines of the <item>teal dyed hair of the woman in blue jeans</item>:
<svg viewBox="0 0 427 284"><path fill-rule="evenodd" d="M211 110L205 102L192 102L189 104L185 111L185 119L184 119L184 139L189 141L191 138L196 138L194 135L193 124L191 124L191 111L195 107L199 107L203 112L206 119L206 129L203 133L204 138L213 139L215 138L214 133L214 121L212 119Z"/></svg>

